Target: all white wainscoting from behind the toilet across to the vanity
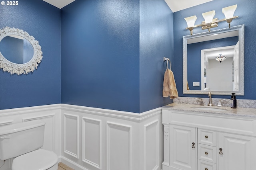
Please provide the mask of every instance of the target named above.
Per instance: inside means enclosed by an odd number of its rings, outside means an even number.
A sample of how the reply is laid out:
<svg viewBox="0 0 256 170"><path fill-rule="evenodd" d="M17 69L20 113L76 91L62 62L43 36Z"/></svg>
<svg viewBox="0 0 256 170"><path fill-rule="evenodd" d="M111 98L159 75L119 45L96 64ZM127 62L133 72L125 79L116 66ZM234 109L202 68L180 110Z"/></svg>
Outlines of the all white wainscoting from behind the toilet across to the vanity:
<svg viewBox="0 0 256 170"><path fill-rule="evenodd" d="M34 119L46 123L42 148L75 170L162 169L160 108L140 114L66 104L0 110L0 126ZM11 164L6 160L1 170Z"/></svg>

